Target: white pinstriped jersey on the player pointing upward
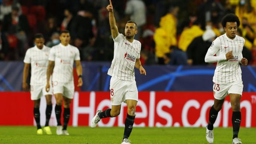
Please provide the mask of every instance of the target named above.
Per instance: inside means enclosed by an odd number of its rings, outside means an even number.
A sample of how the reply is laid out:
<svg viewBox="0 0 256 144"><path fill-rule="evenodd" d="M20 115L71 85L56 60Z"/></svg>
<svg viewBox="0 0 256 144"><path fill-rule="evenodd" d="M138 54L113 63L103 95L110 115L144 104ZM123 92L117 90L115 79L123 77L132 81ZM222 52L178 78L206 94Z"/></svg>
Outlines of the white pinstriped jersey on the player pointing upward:
<svg viewBox="0 0 256 144"><path fill-rule="evenodd" d="M121 80L135 81L134 66L140 58L141 43L138 40L129 42L123 34L114 40L114 58L108 75Z"/></svg>

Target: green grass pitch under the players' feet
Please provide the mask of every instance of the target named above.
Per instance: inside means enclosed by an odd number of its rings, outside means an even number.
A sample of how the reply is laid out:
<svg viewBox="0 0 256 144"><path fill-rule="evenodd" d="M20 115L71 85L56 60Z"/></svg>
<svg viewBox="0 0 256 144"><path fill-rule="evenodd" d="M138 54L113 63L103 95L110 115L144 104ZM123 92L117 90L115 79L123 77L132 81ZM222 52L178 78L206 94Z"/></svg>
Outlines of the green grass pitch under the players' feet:
<svg viewBox="0 0 256 144"><path fill-rule="evenodd" d="M36 135L33 126L0 126L0 144L120 144L124 128L68 127L69 136ZM207 144L205 128L133 128L132 144ZM256 144L256 128L240 128L243 144ZM231 144L232 128L214 128L214 144Z"/></svg>

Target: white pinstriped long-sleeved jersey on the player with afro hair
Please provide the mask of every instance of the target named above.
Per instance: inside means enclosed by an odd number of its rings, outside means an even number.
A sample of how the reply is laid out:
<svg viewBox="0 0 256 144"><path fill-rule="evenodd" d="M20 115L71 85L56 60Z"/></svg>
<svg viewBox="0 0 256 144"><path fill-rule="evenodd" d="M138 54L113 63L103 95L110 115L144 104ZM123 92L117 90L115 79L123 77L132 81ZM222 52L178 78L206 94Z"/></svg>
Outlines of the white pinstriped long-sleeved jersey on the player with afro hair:
<svg viewBox="0 0 256 144"><path fill-rule="evenodd" d="M232 40L226 34L216 38L205 57L206 62L218 62L213 82L228 83L237 80L242 80L242 71L239 63L241 62L242 50L244 46L244 38L237 36ZM232 51L234 58L226 60L226 53ZM216 56L213 56L216 54Z"/></svg>

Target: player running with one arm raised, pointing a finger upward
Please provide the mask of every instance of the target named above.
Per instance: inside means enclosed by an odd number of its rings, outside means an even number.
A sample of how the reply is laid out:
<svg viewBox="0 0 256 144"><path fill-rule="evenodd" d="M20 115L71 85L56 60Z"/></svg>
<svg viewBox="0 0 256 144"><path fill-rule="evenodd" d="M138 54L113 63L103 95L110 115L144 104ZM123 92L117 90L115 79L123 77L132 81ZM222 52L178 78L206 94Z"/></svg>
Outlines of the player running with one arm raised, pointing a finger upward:
<svg viewBox="0 0 256 144"><path fill-rule="evenodd" d="M113 6L107 6L112 38L114 40L114 58L108 70L110 79L111 109L98 110L92 119L91 127L95 128L101 118L116 117L120 114L121 103L127 104L127 116L125 120L124 136L122 144L130 144L128 139L133 128L135 110L138 102L138 90L135 81L134 67L140 70L140 74L146 75L146 70L140 62L141 43L134 40L137 34L135 22L128 21L125 26L125 36L118 32L114 18Z"/></svg>

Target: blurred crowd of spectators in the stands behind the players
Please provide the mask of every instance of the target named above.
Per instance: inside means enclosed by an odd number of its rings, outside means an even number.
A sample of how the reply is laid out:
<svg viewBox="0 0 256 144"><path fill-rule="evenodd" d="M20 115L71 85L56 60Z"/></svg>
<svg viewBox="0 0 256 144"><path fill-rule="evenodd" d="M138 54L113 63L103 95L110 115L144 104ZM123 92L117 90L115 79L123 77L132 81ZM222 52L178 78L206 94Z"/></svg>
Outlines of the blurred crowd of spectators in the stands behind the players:
<svg viewBox="0 0 256 144"><path fill-rule="evenodd" d="M0 0L0 60L23 60L42 33L45 45L60 43L69 30L81 60L111 61L109 0ZM243 56L256 64L256 0L112 0L119 33L128 20L138 25L142 64L205 65L212 41L224 34L221 19L234 13L245 38Z"/></svg>

